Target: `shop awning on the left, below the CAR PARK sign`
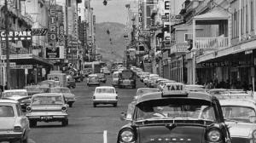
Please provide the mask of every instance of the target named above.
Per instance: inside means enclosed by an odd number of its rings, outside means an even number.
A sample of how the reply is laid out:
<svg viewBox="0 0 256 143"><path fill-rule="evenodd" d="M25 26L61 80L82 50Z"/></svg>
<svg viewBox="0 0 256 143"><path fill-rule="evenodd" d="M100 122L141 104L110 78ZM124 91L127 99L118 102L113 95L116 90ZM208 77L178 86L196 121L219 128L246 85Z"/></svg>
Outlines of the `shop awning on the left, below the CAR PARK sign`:
<svg viewBox="0 0 256 143"><path fill-rule="evenodd" d="M1 56L1 60L6 60L6 55ZM34 54L10 54L9 61L15 62L17 65L39 65L39 66L53 66L53 62Z"/></svg>

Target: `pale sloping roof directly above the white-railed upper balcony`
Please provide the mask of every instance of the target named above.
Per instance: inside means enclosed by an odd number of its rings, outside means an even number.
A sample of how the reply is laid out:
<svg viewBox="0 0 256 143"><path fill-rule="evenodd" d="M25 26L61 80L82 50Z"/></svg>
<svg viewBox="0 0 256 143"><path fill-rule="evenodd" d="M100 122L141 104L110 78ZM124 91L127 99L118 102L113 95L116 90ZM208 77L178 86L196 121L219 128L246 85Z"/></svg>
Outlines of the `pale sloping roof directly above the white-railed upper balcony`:
<svg viewBox="0 0 256 143"><path fill-rule="evenodd" d="M213 9L206 14L196 15L194 20L228 20L229 14L224 9Z"/></svg>

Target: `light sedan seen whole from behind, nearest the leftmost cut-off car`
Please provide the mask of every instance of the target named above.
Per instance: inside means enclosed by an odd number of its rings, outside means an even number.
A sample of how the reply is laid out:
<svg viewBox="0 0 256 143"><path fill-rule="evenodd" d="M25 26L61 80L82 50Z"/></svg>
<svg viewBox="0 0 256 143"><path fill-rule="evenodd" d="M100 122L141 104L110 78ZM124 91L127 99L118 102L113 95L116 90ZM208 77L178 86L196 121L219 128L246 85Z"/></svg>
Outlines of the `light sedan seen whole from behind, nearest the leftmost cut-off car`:
<svg viewBox="0 0 256 143"><path fill-rule="evenodd" d="M34 94L30 106L26 107L30 127L36 127L38 122L61 122L62 126L67 126L67 116L63 94Z"/></svg>

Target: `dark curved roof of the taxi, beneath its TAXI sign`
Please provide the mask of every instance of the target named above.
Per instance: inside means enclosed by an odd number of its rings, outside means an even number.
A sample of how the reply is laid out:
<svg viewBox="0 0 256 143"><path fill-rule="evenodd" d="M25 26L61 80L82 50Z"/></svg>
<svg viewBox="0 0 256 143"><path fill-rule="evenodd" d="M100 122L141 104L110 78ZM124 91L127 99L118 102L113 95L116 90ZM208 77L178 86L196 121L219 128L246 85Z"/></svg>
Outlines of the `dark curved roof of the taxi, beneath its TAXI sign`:
<svg viewBox="0 0 256 143"><path fill-rule="evenodd" d="M137 104L148 101L148 100L161 100L161 99L198 99L198 100L208 100L212 101L212 99L217 99L215 96L212 96L211 94L202 93L202 92L187 92L187 97L163 97L163 92L155 92L155 93L149 93L149 94L143 94L138 100Z"/></svg>

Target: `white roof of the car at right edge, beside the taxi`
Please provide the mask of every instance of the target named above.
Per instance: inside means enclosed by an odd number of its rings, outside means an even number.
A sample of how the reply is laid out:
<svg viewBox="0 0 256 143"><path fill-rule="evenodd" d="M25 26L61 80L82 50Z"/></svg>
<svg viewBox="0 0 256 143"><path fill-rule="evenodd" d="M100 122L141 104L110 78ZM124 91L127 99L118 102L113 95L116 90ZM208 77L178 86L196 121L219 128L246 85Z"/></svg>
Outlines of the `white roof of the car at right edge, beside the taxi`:
<svg viewBox="0 0 256 143"><path fill-rule="evenodd" d="M227 99L227 100L219 100L220 106L248 106L254 107L255 100L252 99Z"/></svg>

